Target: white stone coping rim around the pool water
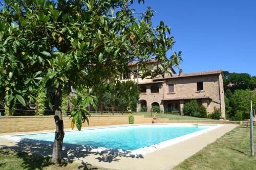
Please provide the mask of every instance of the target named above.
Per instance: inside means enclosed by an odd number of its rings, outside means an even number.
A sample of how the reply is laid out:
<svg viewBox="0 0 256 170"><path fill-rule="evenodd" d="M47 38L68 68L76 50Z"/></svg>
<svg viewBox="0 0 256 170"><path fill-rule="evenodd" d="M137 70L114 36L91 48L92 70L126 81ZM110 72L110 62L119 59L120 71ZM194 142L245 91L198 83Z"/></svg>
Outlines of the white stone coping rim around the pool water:
<svg viewBox="0 0 256 170"><path fill-rule="evenodd" d="M97 129L106 129L106 128L122 128L122 127L130 127L130 126L143 126L143 125L152 125L152 124L135 124L135 125L119 125L119 126L108 126L108 127L93 127L93 128L87 128L87 129L82 129L82 131L85 130L97 130ZM223 125L216 125L216 124L192 124L192 123L173 123L173 124L156 124L154 126L179 126L179 127L187 127L187 126L204 126L207 127L207 129L199 130L193 133L189 133L186 135L182 135L173 139L165 140L156 144L149 145L147 147L139 148L136 150L122 150L122 149L114 149L114 148L104 148L104 147L92 147L90 145L80 145L80 144L71 144L71 143L63 143L63 147L71 148L71 149L80 149L82 151L90 151L93 153L113 153L113 154L118 154L126 157L131 157L131 156L137 156L137 155L145 155L148 153L155 152L160 149L164 149L166 147L170 147L171 145L177 144L179 142L182 142L184 140L196 137L198 135L204 134L206 132L215 130L217 128L222 127ZM67 130L65 132L70 132L72 130ZM78 131L78 130L74 130ZM30 134L46 134L46 133L53 133L51 132L35 132L35 133L23 133L23 134L11 134L11 135L0 135L0 138L12 140L12 141L25 141L29 143L39 143L39 144L47 144L47 145L53 145L53 142L51 141L44 141L44 140L36 140L36 139L28 139L28 138L21 138L21 137L15 137L15 136L22 136L22 135L30 135Z"/></svg>

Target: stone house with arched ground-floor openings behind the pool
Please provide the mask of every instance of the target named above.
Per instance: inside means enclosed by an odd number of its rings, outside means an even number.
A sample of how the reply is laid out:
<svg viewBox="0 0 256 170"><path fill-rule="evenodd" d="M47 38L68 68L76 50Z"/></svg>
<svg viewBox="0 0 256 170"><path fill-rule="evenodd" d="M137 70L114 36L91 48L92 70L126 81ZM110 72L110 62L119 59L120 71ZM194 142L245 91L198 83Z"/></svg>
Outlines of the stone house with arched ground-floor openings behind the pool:
<svg viewBox="0 0 256 170"><path fill-rule="evenodd" d="M152 61L151 67L159 63ZM130 64L136 70L136 64ZM136 74L123 76L122 80L132 80L140 86L140 100L137 111L143 106L150 111L153 106L160 106L162 112L179 112L183 114L183 106L189 100L197 100L199 105L206 107L208 113L214 108L221 110L225 118L225 102L223 76L221 70L191 72L184 74L182 69L176 74L170 69L172 76L158 76L154 79L141 79Z"/></svg>

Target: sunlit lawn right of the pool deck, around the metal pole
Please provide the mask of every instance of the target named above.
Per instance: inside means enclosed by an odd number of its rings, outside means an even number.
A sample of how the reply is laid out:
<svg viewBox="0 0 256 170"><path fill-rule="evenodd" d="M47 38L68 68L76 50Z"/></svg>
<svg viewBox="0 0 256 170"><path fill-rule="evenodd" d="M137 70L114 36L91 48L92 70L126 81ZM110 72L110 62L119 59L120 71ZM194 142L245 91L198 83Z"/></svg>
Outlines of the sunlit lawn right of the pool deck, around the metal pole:
<svg viewBox="0 0 256 170"><path fill-rule="evenodd" d="M256 142L255 127L253 132ZM256 148L255 143L254 148ZM184 160L174 169L256 169L256 156L250 155L250 129L240 125Z"/></svg>

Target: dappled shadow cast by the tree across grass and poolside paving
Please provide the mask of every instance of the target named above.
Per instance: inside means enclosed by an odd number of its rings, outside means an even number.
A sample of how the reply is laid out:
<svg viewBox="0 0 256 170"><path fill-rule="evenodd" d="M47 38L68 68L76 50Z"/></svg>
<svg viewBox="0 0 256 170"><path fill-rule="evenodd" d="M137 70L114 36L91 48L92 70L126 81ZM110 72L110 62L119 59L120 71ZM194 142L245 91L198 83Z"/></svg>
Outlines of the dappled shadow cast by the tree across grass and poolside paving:
<svg viewBox="0 0 256 170"><path fill-rule="evenodd" d="M1 149L6 152L0 152L5 155L11 155L10 150L14 151L14 155L23 159L23 168L28 169L43 169L46 166L52 165L51 155L53 142L46 142L40 140L23 139L16 142L13 146L0 145ZM90 155L96 156L99 162L117 162L121 157L130 158L143 158L142 155L131 155L130 151L117 150L117 149L106 149L104 151L95 152L99 148L97 147L83 147L81 145L63 143L62 149L62 162L59 166L67 166L74 160L81 162L78 166L79 169L98 169L92 166L88 162L83 160ZM9 150L9 151L8 151ZM121 152L120 152L121 151ZM1 168L1 164L0 164Z"/></svg>

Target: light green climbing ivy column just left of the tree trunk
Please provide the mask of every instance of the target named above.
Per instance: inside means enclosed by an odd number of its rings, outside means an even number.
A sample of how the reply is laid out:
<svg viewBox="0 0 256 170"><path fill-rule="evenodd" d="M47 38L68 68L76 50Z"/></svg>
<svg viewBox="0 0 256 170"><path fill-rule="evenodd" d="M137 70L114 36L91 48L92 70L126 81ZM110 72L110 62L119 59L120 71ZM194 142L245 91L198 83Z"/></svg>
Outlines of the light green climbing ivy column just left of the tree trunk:
<svg viewBox="0 0 256 170"><path fill-rule="evenodd" d="M46 104L46 90L44 86L40 86L37 91L36 96L36 104L38 106L38 115L44 115L45 114L45 104Z"/></svg>

